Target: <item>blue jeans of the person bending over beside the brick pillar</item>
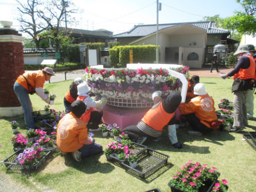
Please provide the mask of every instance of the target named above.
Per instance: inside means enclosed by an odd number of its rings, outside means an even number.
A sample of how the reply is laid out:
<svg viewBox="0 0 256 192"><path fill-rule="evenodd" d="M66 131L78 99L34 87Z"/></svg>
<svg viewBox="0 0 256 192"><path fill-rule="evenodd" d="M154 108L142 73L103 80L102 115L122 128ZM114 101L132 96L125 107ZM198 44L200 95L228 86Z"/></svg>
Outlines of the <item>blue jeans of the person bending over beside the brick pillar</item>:
<svg viewBox="0 0 256 192"><path fill-rule="evenodd" d="M33 107L29 98L28 90L26 90L26 88L17 82L14 83L13 88L24 111L25 124L27 125L28 129L34 129L36 124L32 116Z"/></svg>

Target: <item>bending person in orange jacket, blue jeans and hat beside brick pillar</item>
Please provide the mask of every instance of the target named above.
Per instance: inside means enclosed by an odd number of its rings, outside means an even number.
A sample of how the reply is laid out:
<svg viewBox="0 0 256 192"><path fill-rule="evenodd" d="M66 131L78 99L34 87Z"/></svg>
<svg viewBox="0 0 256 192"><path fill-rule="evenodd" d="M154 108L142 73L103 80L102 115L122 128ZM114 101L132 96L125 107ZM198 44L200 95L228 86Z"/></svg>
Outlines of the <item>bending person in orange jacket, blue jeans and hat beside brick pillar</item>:
<svg viewBox="0 0 256 192"><path fill-rule="evenodd" d="M29 94L32 95L33 93L37 93L42 100L47 102L47 104L50 104L48 94L45 94L43 91L43 84L45 81L49 81L53 75L53 69L45 67L43 70L23 73L23 75L18 76L14 83L14 92L21 103L24 111L24 121L28 129L36 128L36 124L32 116L33 107Z"/></svg>

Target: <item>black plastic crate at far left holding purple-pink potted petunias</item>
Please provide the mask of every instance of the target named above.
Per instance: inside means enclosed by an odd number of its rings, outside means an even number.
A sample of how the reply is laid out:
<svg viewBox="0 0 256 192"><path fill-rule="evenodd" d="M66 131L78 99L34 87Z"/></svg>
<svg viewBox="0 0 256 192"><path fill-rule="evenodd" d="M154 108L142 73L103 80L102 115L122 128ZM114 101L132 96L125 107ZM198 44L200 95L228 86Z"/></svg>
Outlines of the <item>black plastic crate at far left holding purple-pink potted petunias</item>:
<svg viewBox="0 0 256 192"><path fill-rule="evenodd" d="M49 150L45 150L43 149L43 151L46 151L47 154L45 156L42 157L42 159L35 165L21 165L21 164L18 164L15 159L16 157L18 157L18 155L23 152L24 149L20 149L16 152L14 152L14 154L12 154L11 156L9 156L7 159L3 160L2 163L4 165L6 165L6 167L8 169L18 169L18 170L21 170L21 169L26 169L26 170L36 170L38 169L42 163L45 163L48 155L51 153L51 151Z"/></svg>

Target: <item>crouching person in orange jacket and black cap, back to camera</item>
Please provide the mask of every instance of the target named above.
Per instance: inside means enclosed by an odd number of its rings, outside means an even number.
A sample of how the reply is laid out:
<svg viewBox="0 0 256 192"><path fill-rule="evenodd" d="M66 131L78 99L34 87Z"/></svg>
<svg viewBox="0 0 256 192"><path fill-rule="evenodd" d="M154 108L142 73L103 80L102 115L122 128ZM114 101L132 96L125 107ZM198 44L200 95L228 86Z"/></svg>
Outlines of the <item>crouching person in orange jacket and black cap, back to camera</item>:
<svg viewBox="0 0 256 192"><path fill-rule="evenodd" d="M85 111L84 102L74 101L71 104L71 112L60 120L57 127L58 148L63 152L71 152L76 161L102 151L102 146L96 144L92 137L88 137L86 122L79 119Z"/></svg>

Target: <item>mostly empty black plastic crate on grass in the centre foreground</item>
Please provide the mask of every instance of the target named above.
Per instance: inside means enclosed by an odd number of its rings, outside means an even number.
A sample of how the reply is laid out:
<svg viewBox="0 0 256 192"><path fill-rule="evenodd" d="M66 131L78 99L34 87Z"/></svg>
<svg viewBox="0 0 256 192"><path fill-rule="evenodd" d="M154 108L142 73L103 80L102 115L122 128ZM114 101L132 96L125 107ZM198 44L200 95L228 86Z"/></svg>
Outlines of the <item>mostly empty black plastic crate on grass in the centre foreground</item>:
<svg viewBox="0 0 256 192"><path fill-rule="evenodd" d="M170 157L169 155L162 154L161 152L157 152L152 149L144 149L138 152L137 156L138 161L136 168L131 168L127 160L122 162L122 165L125 166L127 171L142 179L148 178L157 170L163 168Z"/></svg>

